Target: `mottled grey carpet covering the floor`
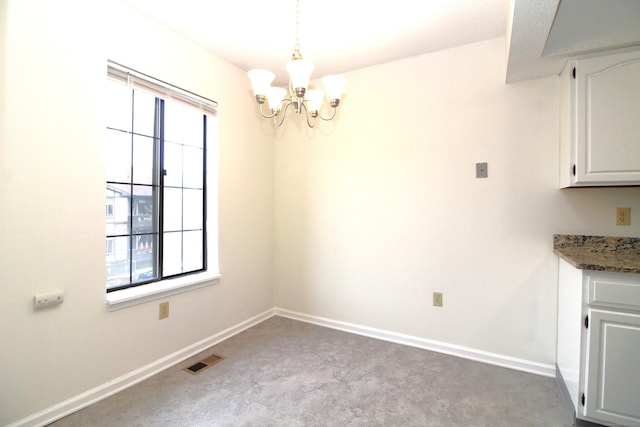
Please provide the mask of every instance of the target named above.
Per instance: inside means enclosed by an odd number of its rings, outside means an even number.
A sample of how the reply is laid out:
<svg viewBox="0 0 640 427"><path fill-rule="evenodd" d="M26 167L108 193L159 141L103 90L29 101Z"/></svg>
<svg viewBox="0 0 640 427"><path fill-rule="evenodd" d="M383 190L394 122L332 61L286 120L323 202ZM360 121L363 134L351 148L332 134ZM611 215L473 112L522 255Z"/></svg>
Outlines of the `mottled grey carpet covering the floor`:
<svg viewBox="0 0 640 427"><path fill-rule="evenodd" d="M211 353L225 359L182 371ZM552 378L273 317L53 425L571 423Z"/></svg>

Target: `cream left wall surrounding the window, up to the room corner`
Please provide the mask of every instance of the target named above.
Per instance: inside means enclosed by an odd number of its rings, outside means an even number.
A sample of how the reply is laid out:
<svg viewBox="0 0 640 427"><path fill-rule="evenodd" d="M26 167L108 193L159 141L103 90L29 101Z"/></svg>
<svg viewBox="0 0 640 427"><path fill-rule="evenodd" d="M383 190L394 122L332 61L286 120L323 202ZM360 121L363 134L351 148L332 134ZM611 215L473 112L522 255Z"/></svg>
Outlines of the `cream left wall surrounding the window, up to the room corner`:
<svg viewBox="0 0 640 427"><path fill-rule="evenodd" d="M273 307L273 142L245 73L115 2L0 2L0 425ZM217 100L219 284L108 312L107 59ZM37 292L65 302L34 311Z"/></svg>

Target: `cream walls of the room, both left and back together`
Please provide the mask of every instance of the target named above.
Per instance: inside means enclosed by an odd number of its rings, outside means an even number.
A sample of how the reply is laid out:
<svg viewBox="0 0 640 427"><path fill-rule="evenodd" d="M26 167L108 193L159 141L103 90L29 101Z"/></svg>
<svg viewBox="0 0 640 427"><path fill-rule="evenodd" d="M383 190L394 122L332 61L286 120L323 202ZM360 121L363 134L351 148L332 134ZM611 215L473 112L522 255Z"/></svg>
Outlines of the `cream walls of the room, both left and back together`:
<svg viewBox="0 0 640 427"><path fill-rule="evenodd" d="M639 189L557 189L558 80L505 86L502 40L350 73L336 122L275 133L247 115L244 72L111 7L0 2L0 425L271 308L273 292L283 308L553 363L551 235L640 236ZM107 59L220 102L223 278L171 297L163 321L157 302L105 306ZM632 227L613 225L615 206ZM64 304L35 312L57 288Z"/></svg>

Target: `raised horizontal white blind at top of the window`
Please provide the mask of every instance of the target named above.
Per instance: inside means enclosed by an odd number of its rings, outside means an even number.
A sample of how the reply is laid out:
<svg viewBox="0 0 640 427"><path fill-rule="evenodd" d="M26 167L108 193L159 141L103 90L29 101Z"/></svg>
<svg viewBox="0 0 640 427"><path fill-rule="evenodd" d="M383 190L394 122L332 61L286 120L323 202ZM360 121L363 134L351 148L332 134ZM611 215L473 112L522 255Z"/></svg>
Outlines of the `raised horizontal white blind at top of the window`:
<svg viewBox="0 0 640 427"><path fill-rule="evenodd" d="M108 61L107 63L107 76L128 86L138 87L140 89L153 92L163 98L173 98L178 101L186 102L194 107L202 108L210 112L215 112L218 108L218 103L216 101L163 82L162 80L154 79L151 76L112 61Z"/></svg>

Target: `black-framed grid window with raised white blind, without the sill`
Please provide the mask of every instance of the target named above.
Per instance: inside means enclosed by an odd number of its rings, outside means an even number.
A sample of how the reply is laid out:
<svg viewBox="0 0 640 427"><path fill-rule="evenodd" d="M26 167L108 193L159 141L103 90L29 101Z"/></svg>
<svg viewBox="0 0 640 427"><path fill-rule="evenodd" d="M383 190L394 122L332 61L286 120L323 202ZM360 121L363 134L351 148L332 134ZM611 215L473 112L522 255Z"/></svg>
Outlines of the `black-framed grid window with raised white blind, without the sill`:
<svg viewBox="0 0 640 427"><path fill-rule="evenodd" d="M107 292L204 272L215 103L116 64L108 75Z"/></svg>

